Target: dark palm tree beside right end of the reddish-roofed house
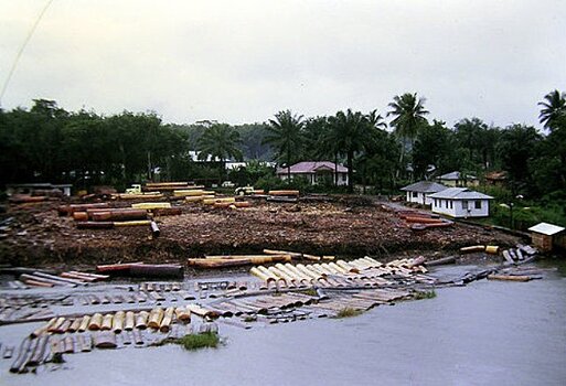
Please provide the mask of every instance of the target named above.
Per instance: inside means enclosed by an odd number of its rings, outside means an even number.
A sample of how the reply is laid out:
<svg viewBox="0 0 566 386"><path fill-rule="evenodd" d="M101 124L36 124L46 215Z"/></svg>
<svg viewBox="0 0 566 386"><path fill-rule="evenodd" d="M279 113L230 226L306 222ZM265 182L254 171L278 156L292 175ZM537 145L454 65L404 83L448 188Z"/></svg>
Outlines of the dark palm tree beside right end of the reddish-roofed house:
<svg viewBox="0 0 566 386"><path fill-rule="evenodd" d="M331 129L327 141L334 143L334 149L346 157L348 164L348 191L354 191L353 171L354 156L373 142L374 130L381 127L381 116L375 111L365 116L360 111L338 111L329 118Z"/></svg>

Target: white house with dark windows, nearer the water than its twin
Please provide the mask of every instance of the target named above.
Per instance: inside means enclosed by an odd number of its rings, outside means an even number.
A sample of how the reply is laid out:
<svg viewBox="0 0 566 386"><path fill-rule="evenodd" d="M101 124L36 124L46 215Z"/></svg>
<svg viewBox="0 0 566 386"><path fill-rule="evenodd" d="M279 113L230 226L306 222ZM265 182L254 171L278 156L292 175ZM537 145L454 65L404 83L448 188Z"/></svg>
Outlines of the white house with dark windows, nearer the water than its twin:
<svg viewBox="0 0 566 386"><path fill-rule="evenodd" d="M448 187L429 195L432 212L451 217L487 217L490 215L492 196L468 187Z"/></svg>

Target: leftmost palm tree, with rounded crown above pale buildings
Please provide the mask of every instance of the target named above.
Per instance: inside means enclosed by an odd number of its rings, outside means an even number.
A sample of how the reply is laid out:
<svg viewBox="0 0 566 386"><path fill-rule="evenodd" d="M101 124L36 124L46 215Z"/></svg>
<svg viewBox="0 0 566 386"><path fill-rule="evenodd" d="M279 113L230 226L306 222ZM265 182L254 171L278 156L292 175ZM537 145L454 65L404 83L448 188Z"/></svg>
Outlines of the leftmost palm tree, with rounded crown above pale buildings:
<svg viewBox="0 0 566 386"><path fill-rule="evenodd" d="M242 150L239 132L229 125L215 124L207 127L197 141L199 159L206 160L209 156L211 161L220 161L220 178L224 176L226 159L234 158L242 160Z"/></svg>

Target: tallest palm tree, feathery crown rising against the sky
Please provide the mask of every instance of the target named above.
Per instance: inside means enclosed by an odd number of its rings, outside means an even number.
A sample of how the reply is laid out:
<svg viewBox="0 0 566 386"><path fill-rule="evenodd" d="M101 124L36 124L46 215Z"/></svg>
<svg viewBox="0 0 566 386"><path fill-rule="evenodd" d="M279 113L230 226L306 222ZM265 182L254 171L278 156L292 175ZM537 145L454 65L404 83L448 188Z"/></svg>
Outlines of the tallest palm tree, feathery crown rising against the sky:
<svg viewBox="0 0 566 386"><path fill-rule="evenodd" d="M395 135L403 140L399 164L403 164L405 156L405 141L408 139L413 147L418 130L427 122L425 116L428 111L425 110L424 103L425 98L417 99L417 93L405 93L401 97L396 95L388 105L392 110L387 112L387 117L394 117L391 126L395 128Z"/></svg>

